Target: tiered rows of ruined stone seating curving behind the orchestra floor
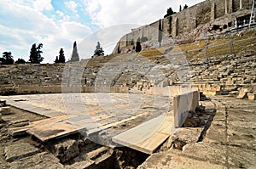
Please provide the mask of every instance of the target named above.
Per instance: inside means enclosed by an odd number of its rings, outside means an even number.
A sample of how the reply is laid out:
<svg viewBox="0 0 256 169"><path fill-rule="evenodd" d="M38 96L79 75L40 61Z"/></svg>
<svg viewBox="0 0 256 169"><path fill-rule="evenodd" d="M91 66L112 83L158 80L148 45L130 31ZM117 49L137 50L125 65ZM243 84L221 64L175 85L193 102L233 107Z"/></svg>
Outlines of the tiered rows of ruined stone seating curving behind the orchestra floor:
<svg viewBox="0 0 256 169"><path fill-rule="evenodd" d="M256 83L256 54L252 52L192 58L187 62L178 60L177 56L173 60L166 57L152 60L140 54L122 54L112 59L105 57L66 65L2 65L0 88L84 85L84 76L89 87L131 88L143 80L159 87L164 87L165 82L219 85L232 92L234 87L254 87ZM56 81L56 75L60 81Z"/></svg>

